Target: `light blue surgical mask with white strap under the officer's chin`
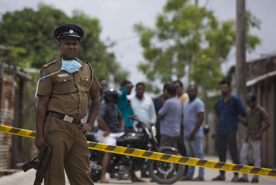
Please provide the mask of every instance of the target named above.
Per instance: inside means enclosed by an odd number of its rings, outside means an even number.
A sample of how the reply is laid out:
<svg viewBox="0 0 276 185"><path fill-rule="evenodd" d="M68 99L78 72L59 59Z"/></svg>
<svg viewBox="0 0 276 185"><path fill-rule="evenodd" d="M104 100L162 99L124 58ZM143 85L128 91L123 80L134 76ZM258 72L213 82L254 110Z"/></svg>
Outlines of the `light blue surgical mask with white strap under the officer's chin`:
<svg viewBox="0 0 276 185"><path fill-rule="evenodd" d="M54 73L49 74L49 75L47 75L45 73L45 71L43 71L43 73L41 74L40 79L37 81L37 90L38 90L38 84L39 84L40 80L44 81L46 79L46 77L54 75L54 74L60 72L61 70L66 70L68 73L74 73L76 71L79 71L80 68L81 68L81 64L78 63L76 60L63 60L62 59L62 66L61 66L61 69L59 71L54 72ZM35 96L34 97L37 97L37 90L35 92Z"/></svg>

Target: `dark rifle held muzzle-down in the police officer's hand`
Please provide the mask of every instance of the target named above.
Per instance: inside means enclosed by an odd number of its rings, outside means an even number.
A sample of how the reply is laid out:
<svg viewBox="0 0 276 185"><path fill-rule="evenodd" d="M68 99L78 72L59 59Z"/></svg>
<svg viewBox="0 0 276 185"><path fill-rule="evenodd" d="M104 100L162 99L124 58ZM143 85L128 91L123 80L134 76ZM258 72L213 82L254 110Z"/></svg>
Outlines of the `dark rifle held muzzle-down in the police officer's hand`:
<svg viewBox="0 0 276 185"><path fill-rule="evenodd" d="M37 185L37 184L40 185L42 183L43 178L45 177L44 171L46 167L49 167L51 151L52 151L52 145L50 143L48 144L43 143L39 150L38 156L35 157L32 161L22 165L22 169L24 172L32 168L37 170L37 172L35 173L34 185ZM36 159L38 159L38 161ZM47 177L45 181L47 181Z"/></svg>

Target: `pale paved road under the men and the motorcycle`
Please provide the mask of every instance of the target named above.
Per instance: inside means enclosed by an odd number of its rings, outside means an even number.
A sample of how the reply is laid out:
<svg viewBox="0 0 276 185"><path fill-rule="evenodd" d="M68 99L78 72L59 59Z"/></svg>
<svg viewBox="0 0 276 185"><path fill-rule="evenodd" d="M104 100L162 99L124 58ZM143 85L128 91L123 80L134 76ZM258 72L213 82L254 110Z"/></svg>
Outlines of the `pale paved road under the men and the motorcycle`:
<svg viewBox="0 0 276 185"><path fill-rule="evenodd" d="M208 160L213 160L213 161L217 161L218 158L217 157L213 157L213 156L206 156L205 157ZM227 161L228 163L231 163L231 160ZM194 178L197 177L198 175L198 167L196 167L196 171L195 171L195 175ZM240 184L247 184L247 183L233 183L230 182L231 178L233 177L233 172L229 172L226 171L225 175L226 175L226 180L225 182L215 182L215 181L211 181L212 178L214 178L215 176L217 176L219 174L219 171L216 169L209 169L209 168L205 168L205 182L192 182L192 181L178 181L176 182L174 185L182 185L182 184L191 184L191 185L240 185ZM109 178L108 174L107 178ZM139 173L137 174L139 176ZM8 184L19 184L19 185L30 185L33 184L34 181L34 176L35 176L35 170L29 170L26 173L24 173L23 171L20 172L16 172L13 173L11 175L8 176L3 176L0 178L0 185L8 185ZM239 175L241 176L241 175ZM251 180L252 175L249 175L249 180ZM130 180L116 180L116 179L109 179L110 181L110 185L119 185L119 184L157 184L155 182L150 182L150 178L143 178L144 180L146 180L148 183L131 183ZM95 185L100 185L101 183L97 183L95 182ZM262 185L275 185L276 184L276 178L274 177L265 177L265 176L260 176L259 178L259 184ZM69 185L69 181L68 179L66 179L66 185Z"/></svg>

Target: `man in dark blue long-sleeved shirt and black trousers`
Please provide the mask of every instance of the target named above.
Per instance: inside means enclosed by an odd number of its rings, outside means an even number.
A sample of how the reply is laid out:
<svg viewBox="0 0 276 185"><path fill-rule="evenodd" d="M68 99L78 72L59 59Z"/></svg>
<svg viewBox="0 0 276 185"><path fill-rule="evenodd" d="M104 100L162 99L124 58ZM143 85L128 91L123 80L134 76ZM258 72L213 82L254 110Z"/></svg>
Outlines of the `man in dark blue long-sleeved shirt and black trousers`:
<svg viewBox="0 0 276 185"><path fill-rule="evenodd" d="M236 131L238 129L238 116L245 117L246 112L241 100L231 94L230 82L223 80L219 83L222 96L218 99L215 130L212 138L217 140L218 155L221 162L226 161L226 148L229 151L234 164L239 164L237 153ZM212 180L225 180L225 171ZM232 182L237 182L238 173L234 173Z"/></svg>

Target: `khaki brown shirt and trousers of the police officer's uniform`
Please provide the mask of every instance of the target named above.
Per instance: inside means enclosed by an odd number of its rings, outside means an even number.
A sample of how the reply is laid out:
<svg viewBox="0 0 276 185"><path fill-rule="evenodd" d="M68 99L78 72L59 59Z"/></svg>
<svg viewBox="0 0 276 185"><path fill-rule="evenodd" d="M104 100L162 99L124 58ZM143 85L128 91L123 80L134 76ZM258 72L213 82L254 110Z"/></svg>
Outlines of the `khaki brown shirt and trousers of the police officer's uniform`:
<svg viewBox="0 0 276 185"><path fill-rule="evenodd" d="M50 185L65 185L64 169L71 185L93 184L90 179L87 140L81 133L80 126L51 116L52 112L58 112L82 119L86 115L89 93L101 88L89 64L77 60L81 64L79 71L68 73L61 70L39 82L37 94L50 98L44 123L45 140L53 146L49 164ZM62 58L59 57L58 60L45 64L40 75L50 75L60 70L61 66Z"/></svg>

